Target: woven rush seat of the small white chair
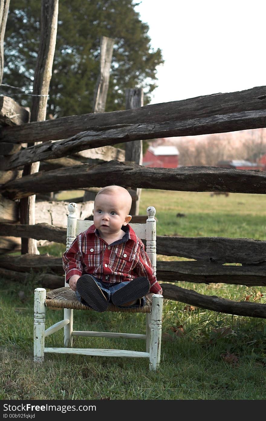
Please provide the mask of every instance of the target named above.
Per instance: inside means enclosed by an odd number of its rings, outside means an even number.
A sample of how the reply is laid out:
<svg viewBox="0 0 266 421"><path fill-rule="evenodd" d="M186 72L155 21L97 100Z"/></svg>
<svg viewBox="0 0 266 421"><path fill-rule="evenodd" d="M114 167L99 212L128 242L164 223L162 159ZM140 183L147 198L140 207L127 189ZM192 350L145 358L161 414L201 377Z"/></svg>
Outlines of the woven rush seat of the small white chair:
<svg viewBox="0 0 266 421"><path fill-rule="evenodd" d="M139 309L120 309L119 307L109 303L106 311L123 313L150 313L151 300L146 298L146 301L148 304ZM82 304L77 299L75 291L71 290L69 287L57 288L55 290L46 292L45 306L73 310L92 310L90 307Z"/></svg>

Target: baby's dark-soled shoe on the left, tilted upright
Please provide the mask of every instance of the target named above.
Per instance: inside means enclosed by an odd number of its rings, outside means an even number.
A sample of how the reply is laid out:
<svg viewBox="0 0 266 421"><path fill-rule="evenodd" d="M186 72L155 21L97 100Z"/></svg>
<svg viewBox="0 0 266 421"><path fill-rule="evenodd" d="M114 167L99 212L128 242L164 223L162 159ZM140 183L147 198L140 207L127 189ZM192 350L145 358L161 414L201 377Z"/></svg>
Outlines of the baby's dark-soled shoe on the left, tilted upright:
<svg viewBox="0 0 266 421"><path fill-rule="evenodd" d="M76 282L76 289L81 298L96 312L104 312L107 309L108 301L90 275L82 275Z"/></svg>

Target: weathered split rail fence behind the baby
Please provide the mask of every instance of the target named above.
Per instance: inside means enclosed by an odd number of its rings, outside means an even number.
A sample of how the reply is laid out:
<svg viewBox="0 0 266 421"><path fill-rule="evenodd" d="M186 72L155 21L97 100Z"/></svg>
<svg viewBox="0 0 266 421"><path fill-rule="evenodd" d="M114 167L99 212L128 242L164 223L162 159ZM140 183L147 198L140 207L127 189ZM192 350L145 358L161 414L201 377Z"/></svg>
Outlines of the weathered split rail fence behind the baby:
<svg viewBox="0 0 266 421"><path fill-rule="evenodd" d="M125 111L91 113L33 123L28 123L29 115L17 104L16 117L12 117L12 107L15 104L11 105L11 99L2 97L1 101L0 275L8 279L24 280L29 268L32 268L34 272L45 271L50 274L49 277L38 278L38 285L41 283L47 288L63 285L61 258L33 254L16 257L5 253L10 251L3 242L6 237L26 237L65 244L66 204L54 202L46 209L44 202L40 202L39 210L38 204L36 205L36 220L42 223L18 224L19 201L25 197L47 196L61 190L95 189L109 184L119 184L129 189L266 193L265 172L216 167L145 168L124 161L123 152L112 146L157 137L264 128L266 86L146 105ZM24 143L36 141L42 143L23 148ZM90 162L82 162L80 158L84 155L87 157L86 154L92 151ZM38 161L42 171L21 177L25 164ZM62 208L60 221L55 222L53 207L56 206ZM84 209L82 214L82 204L79 211L81 217L86 217ZM45 219L46 215L49 216L49 221ZM195 259L158 261L159 282L266 285L266 241L158 236L157 253ZM224 265L225 263L242 265ZM266 317L266 304L205 296L172 283L161 285L164 298L217 312Z"/></svg>

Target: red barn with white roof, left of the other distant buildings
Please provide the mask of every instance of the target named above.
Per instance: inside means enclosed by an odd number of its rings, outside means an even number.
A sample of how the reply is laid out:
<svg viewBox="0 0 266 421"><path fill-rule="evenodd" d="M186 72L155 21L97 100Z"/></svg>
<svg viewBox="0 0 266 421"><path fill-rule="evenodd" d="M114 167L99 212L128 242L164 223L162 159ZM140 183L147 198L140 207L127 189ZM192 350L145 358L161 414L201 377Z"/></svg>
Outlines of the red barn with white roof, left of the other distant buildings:
<svg viewBox="0 0 266 421"><path fill-rule="evenodd" d="M150 146L142 165L145 167L176 168L178 167L179 152L175 146Z"/></svg>

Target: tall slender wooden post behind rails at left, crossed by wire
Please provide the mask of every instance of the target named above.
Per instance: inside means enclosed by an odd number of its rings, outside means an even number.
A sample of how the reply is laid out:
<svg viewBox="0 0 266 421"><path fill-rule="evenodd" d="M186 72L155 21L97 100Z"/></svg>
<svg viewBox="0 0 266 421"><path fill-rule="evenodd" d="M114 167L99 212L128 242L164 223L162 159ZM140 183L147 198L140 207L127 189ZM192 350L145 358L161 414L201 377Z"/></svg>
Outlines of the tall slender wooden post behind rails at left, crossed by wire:
<svg viewBox="0 0 266 421"><path fill-rule="evenodd" d="M41 37L38 52L37 65L34 75L33 101L31 110L31 122L43 121L46 117L47 97L50 80L52 77L53 57L55 53L55 41L58 21L58 0L42 0L41 8ZM41 142L36 142L38 144ZM28 144L31 146L31 144ZM25 165L23 176L37 173L40 162ZM21 224L35 224L35 195L21 199L20 203ZM38 254L36 240L21 238L21 254Z"/></svg>

